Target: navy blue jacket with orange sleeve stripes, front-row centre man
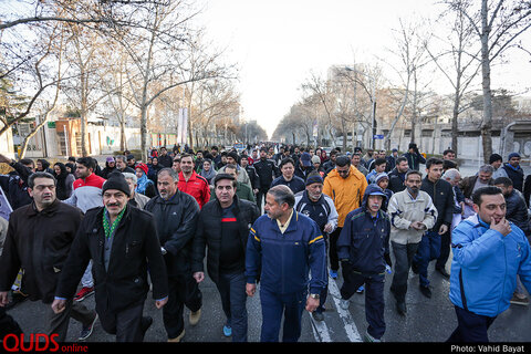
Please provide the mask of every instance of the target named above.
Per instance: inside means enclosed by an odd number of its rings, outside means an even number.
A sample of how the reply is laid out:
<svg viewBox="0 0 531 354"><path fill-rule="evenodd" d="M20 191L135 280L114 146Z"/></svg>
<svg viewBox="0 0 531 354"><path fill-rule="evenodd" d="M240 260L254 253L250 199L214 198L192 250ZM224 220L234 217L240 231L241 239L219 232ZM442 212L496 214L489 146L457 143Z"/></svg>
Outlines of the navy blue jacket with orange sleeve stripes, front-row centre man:
<svg viewBox="0 0 531 354"><path fill-rule="evenodd" d="M261 287L279 294L304 291L309 284L310 293L321 293L327 284L326 251L315 221L293 210L282 233L277 220L258 218L247 242L247 282L254 283L259 275Z"/></svg>

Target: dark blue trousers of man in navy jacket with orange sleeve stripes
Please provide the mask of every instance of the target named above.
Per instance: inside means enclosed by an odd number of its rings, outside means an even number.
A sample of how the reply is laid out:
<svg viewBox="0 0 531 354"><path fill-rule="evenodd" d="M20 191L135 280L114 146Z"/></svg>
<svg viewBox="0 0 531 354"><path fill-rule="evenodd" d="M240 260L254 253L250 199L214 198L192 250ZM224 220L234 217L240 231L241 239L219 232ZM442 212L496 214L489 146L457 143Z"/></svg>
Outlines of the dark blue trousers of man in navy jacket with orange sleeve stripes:
<svg viewBox="0 0 531 354"><path fill-rule="evenodd" d="M282 342L298 342L301 336L302 312L306 306L306 291L291 294L279 294L274 291L260 289L262 304L261 342L279 342L282 315L284 325Z"/></svg>

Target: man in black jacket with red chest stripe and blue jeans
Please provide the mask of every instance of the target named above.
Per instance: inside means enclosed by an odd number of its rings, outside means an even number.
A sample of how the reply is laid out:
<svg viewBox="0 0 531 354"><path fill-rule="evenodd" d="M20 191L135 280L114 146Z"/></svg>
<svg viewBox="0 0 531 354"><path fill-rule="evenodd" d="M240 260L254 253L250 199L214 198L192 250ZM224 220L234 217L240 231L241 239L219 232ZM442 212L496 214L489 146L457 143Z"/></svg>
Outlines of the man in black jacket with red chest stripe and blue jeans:
<svg viewBox="0 0 531 354"><path fill-rule="evenodd" d="M207 202L199 214L191 271L197 282L205 280L204 259L208 248L208 274L218 288L227 316L223 334L232 336L232 342L247 342L246 248L250 227L260 212L254 202L236 196L236 176L219 174L214 186L216 199Z"/></svg>

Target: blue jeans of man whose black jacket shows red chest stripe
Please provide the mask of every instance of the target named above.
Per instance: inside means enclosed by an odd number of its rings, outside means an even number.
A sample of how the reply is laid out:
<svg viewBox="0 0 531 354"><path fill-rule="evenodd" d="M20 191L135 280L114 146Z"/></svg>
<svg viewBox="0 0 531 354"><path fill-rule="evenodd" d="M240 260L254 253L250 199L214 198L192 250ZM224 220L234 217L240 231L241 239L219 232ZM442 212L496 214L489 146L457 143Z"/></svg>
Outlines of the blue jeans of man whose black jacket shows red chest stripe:
<svg viewBox="0 0 531 354"><path fill-rule="evenodd" d="M227 325L232 329L232 342L247 342L247 293L243 272L219 273L218 287Z"/></svg>

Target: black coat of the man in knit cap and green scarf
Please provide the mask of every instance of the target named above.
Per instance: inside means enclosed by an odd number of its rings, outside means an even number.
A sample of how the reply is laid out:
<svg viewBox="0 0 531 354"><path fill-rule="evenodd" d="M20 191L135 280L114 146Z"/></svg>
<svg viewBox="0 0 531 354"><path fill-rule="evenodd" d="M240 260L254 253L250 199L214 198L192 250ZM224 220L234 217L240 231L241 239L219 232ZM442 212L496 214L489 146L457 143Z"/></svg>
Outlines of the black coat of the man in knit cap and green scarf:
<svg viewBox="0 0 531 354"><path fill-rule="evenodd" d="M104 207L98 207L86 211L64 264L56 296L69 299L75 294L91 259L98 313L115 313L144 302L149 291L148 266L153 299L167 296L168 278L153 215L127 206L114 235L106 270L104 210Z"/></svg>

